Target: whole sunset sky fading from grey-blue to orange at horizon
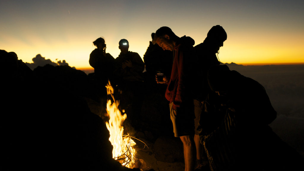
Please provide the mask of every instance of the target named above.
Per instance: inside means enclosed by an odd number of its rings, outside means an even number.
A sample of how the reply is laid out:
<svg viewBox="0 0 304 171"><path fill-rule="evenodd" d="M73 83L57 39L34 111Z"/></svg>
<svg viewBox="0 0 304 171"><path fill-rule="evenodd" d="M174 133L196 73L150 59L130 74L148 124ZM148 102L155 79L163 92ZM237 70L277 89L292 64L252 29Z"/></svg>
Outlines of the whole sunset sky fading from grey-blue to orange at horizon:
<svg viewBox="0 0 304 171"><path fill-rule="evenodd" d="M219 60L237 64L304 63L304 1L0 0L0 49L32 63L37 54L90 68L93 41L103 37L116 58L120 39L143 58L151 33L168 26L195 45L212 26L226 30Z"/></svg>

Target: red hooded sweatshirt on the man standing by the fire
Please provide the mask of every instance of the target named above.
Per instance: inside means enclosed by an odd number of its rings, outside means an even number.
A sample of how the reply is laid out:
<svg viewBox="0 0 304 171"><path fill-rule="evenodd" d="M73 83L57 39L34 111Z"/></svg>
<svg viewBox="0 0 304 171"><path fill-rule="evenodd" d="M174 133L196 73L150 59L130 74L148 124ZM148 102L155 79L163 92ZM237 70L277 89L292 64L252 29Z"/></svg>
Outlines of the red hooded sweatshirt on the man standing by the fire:
<svg viewBox="0 0 304 171"><path fill-rule="evenodd" d="M195 78L197 57L194 44L191 37L183 36L175 43L173 49L173 65L165 97L170 103L173 102L174 110L185 103L193 103L193 80L198 79Z"/></svg>

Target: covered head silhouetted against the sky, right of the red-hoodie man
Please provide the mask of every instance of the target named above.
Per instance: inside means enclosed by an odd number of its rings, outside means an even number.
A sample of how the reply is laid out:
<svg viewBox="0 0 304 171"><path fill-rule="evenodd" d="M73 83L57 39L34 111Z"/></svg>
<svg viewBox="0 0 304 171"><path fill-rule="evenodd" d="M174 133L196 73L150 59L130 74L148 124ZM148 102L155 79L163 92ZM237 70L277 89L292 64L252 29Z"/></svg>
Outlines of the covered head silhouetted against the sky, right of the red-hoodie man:
<svg viewBox="0 0 304 171"><path fill-rule="evenodd" d="M204 43L209 44L210 48L212 48L212 50L217 53L219 51L219 48L223 46L223 42L225 40L227 40L226 31L222 26L216 25L209 30Z"/></svg>

